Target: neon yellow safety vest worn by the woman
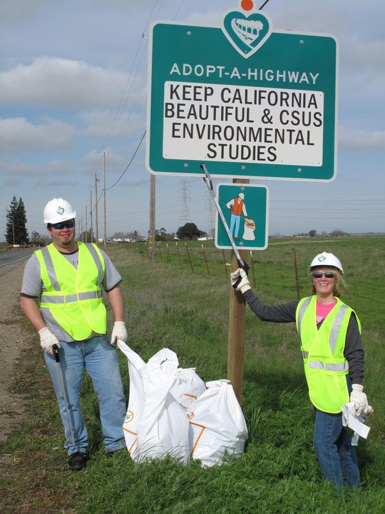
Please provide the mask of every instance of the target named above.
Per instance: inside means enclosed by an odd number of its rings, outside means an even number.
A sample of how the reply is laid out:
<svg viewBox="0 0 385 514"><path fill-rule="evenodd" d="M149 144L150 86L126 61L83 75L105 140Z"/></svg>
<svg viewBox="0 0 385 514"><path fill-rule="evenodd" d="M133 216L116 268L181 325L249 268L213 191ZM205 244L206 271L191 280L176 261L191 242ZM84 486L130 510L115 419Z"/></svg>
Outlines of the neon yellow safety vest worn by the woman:
<svg viewBox="0 0 385 514"><path fill-rule="evenodd" d="M349 402L349 363L344 358L344 348L351 313L356 313L337 298L337 304L317 329L316 306L317 296L309 296L299 301L296 311L309 397L317 409L337 414ZM356 320L361 333L357 316Z"/></svg>

